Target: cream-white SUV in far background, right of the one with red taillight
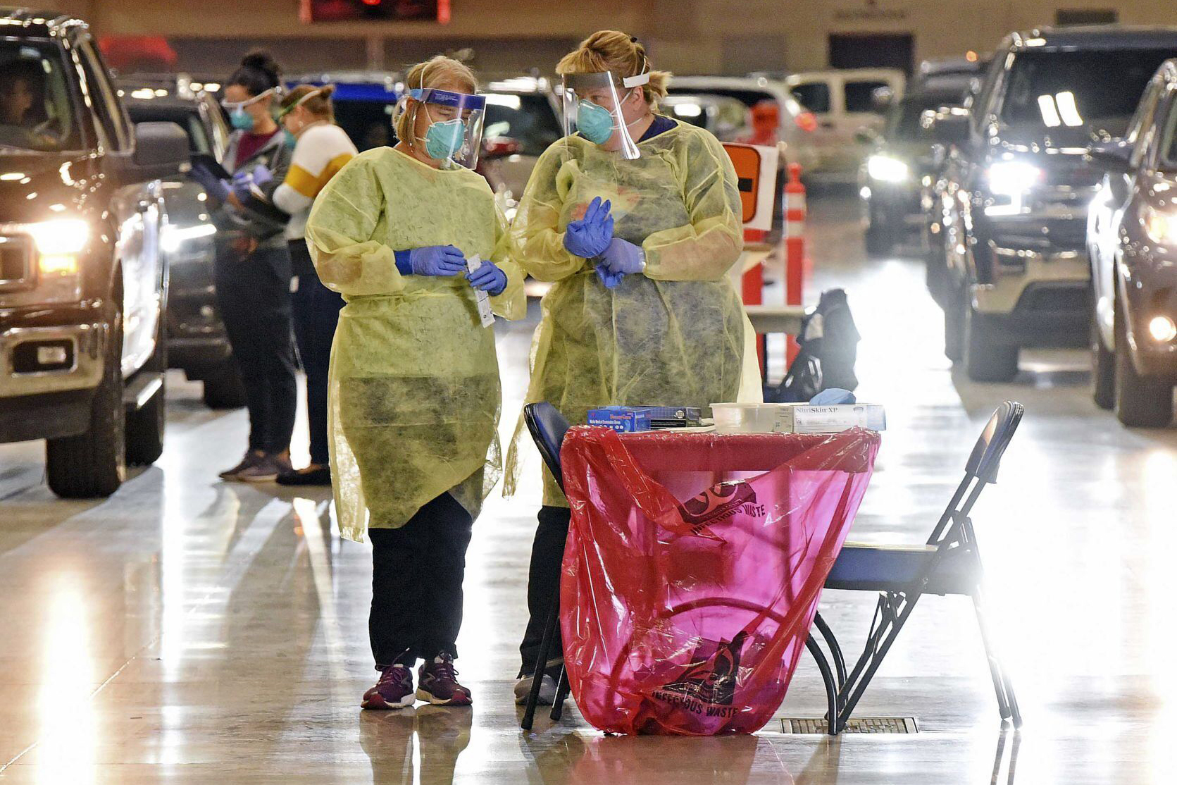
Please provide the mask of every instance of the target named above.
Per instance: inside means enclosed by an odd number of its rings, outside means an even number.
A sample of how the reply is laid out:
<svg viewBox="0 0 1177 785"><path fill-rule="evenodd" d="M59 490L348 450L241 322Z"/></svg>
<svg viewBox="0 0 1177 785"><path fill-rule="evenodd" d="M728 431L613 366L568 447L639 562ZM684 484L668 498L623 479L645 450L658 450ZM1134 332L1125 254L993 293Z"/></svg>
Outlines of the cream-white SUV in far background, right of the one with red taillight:
<svg viewBox="0 0 1177 785"><path fill-rule="evenodd" d="M817 161L811 173L853 180L869 152L859 132L869 128L877 135L883 131L889 100L903 98L905 82L903 72L895 68L790 74L785 84L792 98L817 119L811 134Z"/></svg>

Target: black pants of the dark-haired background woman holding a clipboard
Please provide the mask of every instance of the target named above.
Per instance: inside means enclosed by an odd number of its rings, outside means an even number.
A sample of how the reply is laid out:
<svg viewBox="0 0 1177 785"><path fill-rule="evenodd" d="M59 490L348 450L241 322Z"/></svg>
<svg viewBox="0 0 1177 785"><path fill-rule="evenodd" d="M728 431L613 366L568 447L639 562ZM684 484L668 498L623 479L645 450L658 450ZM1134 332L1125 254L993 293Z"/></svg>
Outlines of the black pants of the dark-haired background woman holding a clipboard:
<svg viewBox="0 0 1177 785"><path fill-rule="evenodd" d="M285 247L217 257L217 305L241 370L250 450L290 450L298 385L291 340L291 260Z"/></svg>

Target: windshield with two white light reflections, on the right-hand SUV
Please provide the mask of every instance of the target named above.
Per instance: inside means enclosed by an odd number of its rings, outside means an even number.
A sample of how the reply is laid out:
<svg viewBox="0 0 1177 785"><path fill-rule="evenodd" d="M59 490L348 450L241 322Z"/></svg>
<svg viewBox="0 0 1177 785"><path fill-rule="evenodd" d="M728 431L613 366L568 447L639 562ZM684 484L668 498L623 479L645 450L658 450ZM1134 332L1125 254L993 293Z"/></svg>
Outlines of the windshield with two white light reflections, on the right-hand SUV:
<svg viewBox="0 0 1177 785"><path fill-rule="evenodd" d="M1002 120L1122 135L1149 79L1177 49L1019 52Z"/></svg>

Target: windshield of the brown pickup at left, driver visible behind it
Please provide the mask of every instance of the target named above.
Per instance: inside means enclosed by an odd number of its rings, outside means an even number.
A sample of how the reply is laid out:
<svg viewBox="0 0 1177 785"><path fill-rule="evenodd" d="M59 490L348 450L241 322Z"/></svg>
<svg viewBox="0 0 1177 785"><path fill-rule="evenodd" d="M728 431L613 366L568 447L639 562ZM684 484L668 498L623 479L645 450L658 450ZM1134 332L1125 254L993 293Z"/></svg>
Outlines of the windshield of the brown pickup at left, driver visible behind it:
<svg viewBox="0 0 1177 785"><path fill-rule="evenodd" d="M62 65L53 44L0 40L0 152L81 147Z"/></svg>

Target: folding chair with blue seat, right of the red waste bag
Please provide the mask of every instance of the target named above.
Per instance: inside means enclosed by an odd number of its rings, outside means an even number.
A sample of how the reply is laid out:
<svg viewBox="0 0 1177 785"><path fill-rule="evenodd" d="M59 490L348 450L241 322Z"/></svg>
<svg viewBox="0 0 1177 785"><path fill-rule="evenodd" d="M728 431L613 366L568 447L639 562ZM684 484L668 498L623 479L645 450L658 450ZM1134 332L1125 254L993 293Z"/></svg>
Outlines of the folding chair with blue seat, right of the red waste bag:
<svg viewBox="0 0 1177 785"><path fill-rule="evenodd" d="M969 513L984 487L997 481L997 467L1023 411L1022 404L1005 401L993 412L969 455L964 479L924 545L897 547L846 543L843 546L825 587L879 592L879 598L866 646L849 676L837 638L820 614L814 618L814 626L830 647L837 672L834 680L827 666L820 668L826 696L833 693L837 697L827 714L830 733L845 730L851 712L924 594L972 598L998 711L1003 721L1010 719L1015 727L1020 727L1022 713L1013 684L993 650L985 621L984 570ZM813 643L812 637L810 643ZM822 665L820 660L818 665Z"/></svg>

